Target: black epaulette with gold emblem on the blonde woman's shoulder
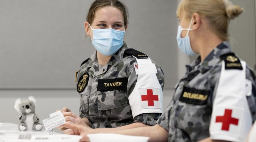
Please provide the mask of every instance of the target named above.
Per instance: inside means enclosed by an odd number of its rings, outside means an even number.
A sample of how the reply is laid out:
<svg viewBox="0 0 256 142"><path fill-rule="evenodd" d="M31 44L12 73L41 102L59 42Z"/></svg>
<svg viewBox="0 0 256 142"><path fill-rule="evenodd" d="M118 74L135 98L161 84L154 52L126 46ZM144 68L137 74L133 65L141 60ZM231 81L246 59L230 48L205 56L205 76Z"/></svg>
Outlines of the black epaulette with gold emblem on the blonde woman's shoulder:
<svg viewBox="0 0 256 142"><path fill-rule="evenodd" d="M237 70L243 70L242 64L239 60L239 58L235 55L235 53L227 53L224 55L221 55L220 58L225 61L225 69L237 69Z"/></svg>

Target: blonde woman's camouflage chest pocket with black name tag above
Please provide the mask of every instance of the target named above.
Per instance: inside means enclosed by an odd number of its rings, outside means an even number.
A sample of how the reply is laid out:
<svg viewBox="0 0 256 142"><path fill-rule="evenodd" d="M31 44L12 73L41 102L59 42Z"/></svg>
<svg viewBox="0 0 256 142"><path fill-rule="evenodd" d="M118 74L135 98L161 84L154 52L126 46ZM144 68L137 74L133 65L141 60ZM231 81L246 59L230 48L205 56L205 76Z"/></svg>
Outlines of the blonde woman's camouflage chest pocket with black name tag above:
<svg viewBox="0 0 256 142"><path fill-rule="evenodd" d="M175 111L177 127L188 133L208 130L212 114L208 99L208 90L184 87Z"/></svg>

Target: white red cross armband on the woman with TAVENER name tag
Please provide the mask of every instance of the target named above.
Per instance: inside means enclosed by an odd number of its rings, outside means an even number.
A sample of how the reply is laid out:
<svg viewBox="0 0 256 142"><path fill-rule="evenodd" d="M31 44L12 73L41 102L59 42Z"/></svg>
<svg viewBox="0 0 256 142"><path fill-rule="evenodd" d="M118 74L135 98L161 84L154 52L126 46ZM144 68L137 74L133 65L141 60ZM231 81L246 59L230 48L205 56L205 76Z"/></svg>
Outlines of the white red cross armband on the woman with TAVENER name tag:
<svg viewBox="0 0 256 142"><path fill-rule="evenodd" d="M128 98L133 118L144 113L163 113L163 90L156 77L156 65L150 58L133 57L138 62L134 65L138 79Z"/></svg>

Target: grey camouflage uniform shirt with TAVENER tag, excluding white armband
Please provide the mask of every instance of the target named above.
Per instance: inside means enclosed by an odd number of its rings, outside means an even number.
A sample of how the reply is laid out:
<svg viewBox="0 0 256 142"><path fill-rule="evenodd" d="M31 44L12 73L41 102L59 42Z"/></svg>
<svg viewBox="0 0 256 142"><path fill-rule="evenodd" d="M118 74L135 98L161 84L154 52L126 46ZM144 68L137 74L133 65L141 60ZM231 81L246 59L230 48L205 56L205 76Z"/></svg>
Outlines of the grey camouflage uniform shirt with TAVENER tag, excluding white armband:
<svg viewBox="0 0 256 142"><path fill-rule="evenodd" d="M128 97L138 78L134 67L137 61L133 56L124 53L126 49L130 47L124 43L109 62L101 68L95 52L82 63L80 70L76 72L77 91L80 93L80 117L87 118L92 128L115 128L134 122L155 125L161 115L161 113L144 113L132 116ZM163 88L164 72L157 65L156 69L157 79ZM109 79L109 81L114 79L117 83L112 89L110 87L108 90L100 90L100 79ZM84 86L83 83L85 87L81 87L83 88L81 90L79 87ZM120 84L124 88L118 88Z"/></svg>

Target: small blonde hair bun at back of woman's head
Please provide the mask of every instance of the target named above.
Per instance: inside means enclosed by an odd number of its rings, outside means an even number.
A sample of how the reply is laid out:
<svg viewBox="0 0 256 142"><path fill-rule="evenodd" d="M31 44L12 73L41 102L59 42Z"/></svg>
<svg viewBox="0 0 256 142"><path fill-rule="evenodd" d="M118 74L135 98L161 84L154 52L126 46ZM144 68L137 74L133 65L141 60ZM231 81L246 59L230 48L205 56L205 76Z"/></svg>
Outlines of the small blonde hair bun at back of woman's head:
<svg viewBox="0 0 256 142"><path fill-rule="evenodd" d="M244 11L243 8L241 8L238 5L233 5L233 4L230 4L226 8L227 16L229 19L234 19L234 18L238 17L241 13L243 13L243 11Z"/></svg>

